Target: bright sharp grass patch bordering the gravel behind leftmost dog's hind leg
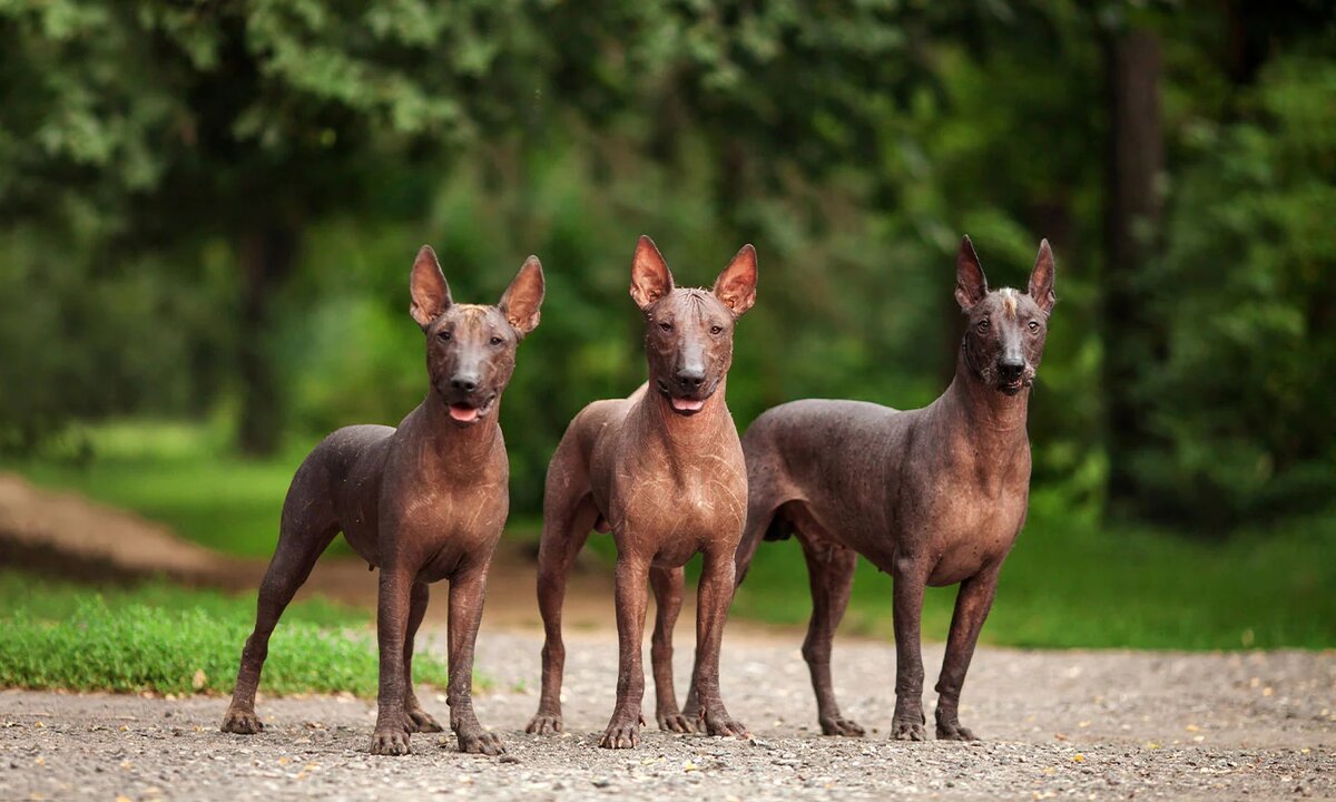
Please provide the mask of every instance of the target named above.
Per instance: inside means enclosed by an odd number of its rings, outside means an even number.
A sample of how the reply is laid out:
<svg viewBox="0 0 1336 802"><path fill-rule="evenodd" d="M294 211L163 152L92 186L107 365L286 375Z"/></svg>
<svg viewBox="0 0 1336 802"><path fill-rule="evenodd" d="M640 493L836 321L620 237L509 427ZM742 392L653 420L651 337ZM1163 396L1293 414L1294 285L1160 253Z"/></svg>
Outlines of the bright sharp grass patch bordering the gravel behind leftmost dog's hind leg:
<svg viewBox="0 0 1336 802"><path fill-rule="evenodd" d="M0 687L228 694L255 619L255 595L166 583L96 589L0 571ZM374 696L369 614L325 602L291 606L270 640L261 690ZM444 687L446 667L413 662Z"/></svg>

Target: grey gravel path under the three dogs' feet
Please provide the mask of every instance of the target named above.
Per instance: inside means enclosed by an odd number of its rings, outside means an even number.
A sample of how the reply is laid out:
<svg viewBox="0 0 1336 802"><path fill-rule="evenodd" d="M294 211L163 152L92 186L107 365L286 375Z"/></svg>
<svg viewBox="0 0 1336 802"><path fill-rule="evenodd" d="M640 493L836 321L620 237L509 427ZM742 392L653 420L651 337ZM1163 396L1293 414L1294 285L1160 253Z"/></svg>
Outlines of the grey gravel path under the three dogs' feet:
<svg viewBox="0 0 1336 802"><path fill-rule="evenodd" d="M433 631L426 648L442 646ZM568 635L569 734L554 738L522 732L540 646L533 632L484 628L480 639L489 690L477 710L502 734L501 759L461 755L441 735L414 735L406 758L371 757L374 710L353 698L262 699L267 728L243 738L218 731L218 698L3 691L0 798L1336 798L1332 652L985 648L962 720L989 741L898 743L886 739L890 644L836 643L844 712L870 735L822 738L798 638L743 630L725 639L723 684L754 741L647 730L640 749L608 751L596 743L612 710L616 638ZM925 658L935 676L941 646ZM679 686L689 659L679 648ZM424 700L445 719L444 696ZM652 695L645 714L653 719Z"/></svg>

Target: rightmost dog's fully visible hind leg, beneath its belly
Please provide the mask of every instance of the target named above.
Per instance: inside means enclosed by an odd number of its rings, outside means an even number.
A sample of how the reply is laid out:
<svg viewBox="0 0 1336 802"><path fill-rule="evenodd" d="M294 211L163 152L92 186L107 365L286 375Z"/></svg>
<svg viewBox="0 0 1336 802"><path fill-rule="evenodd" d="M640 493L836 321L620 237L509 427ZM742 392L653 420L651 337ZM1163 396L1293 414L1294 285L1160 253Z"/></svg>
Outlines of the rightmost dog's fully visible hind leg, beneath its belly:
<svg viewBox="0 0 1336 802"><path fill-rule="evenodd" d="M823 735L862 737L863 727L840 715L831 682L831 642L854 589L858 552L807 537L802 531L799 541L803 544L803 556L807 557L807 579L812 587L812 620L803 640L803 659L807 660L812 690L816 692L816 718Z"/></svg>

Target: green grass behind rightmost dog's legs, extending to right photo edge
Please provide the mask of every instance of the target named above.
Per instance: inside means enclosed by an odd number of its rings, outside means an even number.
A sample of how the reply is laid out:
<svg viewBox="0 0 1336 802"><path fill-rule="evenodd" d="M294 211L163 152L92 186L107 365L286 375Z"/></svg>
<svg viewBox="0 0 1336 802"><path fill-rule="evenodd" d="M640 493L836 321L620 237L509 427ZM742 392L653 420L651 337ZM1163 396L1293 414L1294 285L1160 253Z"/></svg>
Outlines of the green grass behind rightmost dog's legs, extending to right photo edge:
<svg viewBox="0 0 1336 802"><path fill-rule="evenodd" d="M1336 647L1336 512L1222 543L1153 528L1105 529L1037 492L983 627L986 643L1173 650ZM929 588L923 636L946 640L957 588ZM736 615L806 623L802 551L764 543ZM846 632L891 638L891 577L859 561Z"/></svg>

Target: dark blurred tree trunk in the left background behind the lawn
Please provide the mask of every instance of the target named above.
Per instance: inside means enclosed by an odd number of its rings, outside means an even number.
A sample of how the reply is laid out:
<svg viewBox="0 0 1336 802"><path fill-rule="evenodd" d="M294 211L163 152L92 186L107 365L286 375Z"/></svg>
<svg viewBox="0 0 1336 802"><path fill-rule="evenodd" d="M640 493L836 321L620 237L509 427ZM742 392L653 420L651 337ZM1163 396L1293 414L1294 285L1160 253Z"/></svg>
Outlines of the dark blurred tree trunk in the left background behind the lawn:
<svg viewBox="0 0 1336 802"><path fill-rule="evenodd" d="M278 450L283 433L283 398L271 356L271 299L293 271L297 231L282 223L263 225L240 235L240 331L236 377L240 420L236 445L242 453L267 456Z"/></svg>

